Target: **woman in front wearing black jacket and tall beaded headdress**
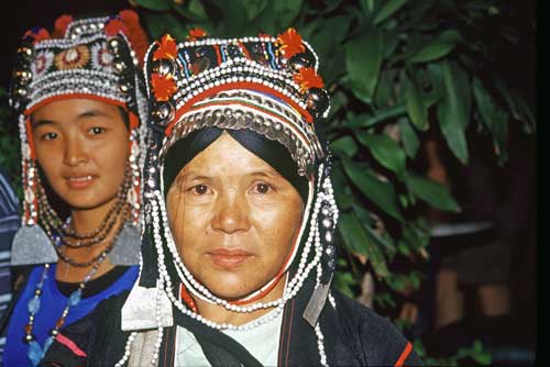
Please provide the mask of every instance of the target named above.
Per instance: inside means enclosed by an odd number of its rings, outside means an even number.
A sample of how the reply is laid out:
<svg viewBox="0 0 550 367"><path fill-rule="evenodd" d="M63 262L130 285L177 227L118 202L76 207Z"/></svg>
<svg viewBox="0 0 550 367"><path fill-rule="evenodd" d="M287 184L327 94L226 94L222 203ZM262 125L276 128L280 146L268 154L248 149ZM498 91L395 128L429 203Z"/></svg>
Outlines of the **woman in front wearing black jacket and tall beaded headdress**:
<svg viewBox="0 0 550 367"><path fill-rule="evenodd" d="M64 331L44 364L419 364L388 321L331 288L338 209L314 49L290 29L166 35L147 55L140 280Z"/></svg>

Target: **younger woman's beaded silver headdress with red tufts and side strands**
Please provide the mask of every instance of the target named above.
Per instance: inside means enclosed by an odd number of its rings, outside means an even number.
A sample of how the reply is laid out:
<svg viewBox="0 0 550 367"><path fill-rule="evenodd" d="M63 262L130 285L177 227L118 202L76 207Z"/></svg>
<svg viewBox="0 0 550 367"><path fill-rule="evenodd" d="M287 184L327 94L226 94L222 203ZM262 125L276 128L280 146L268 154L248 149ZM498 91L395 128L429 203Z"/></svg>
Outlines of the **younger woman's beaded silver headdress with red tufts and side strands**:
<svg viewBox="0 0 550 367"><path fill-rule="evenodd" d="M140 62L147 38L131 10L113 16L73 20L62 15L52 34L45 29L28 31L16 51L10 104L19 113L24 188L23 225L15 236L12 264L55 260L53 248L31 254L29 245L16 243L46 241L38 227L41 184L34 156L30 116L40 107L59 99L87 98L119 105L130 123L131 222L140 224L142 167L147 108ZM18 248L15 248L18 247ZM51 246L50 246L51 247ZM19 254L19 255L18 255Z"/></svg>

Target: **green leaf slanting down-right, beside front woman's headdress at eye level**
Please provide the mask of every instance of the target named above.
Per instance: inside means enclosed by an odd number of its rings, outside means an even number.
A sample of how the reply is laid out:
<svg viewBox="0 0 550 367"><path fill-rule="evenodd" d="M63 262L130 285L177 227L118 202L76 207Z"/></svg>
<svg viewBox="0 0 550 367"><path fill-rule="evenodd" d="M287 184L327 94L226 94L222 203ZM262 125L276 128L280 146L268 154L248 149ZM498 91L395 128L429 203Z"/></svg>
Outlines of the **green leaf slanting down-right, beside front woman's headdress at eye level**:
<svg viewBox="0 0 550 367"><path fill-rule="evenodd" d="M342 159L343 168L353 185L372 202L393 218L403 221L404 218L397 205L394 187L389 182L383 182L370 170L360 167L349 159Z"/></svg>

